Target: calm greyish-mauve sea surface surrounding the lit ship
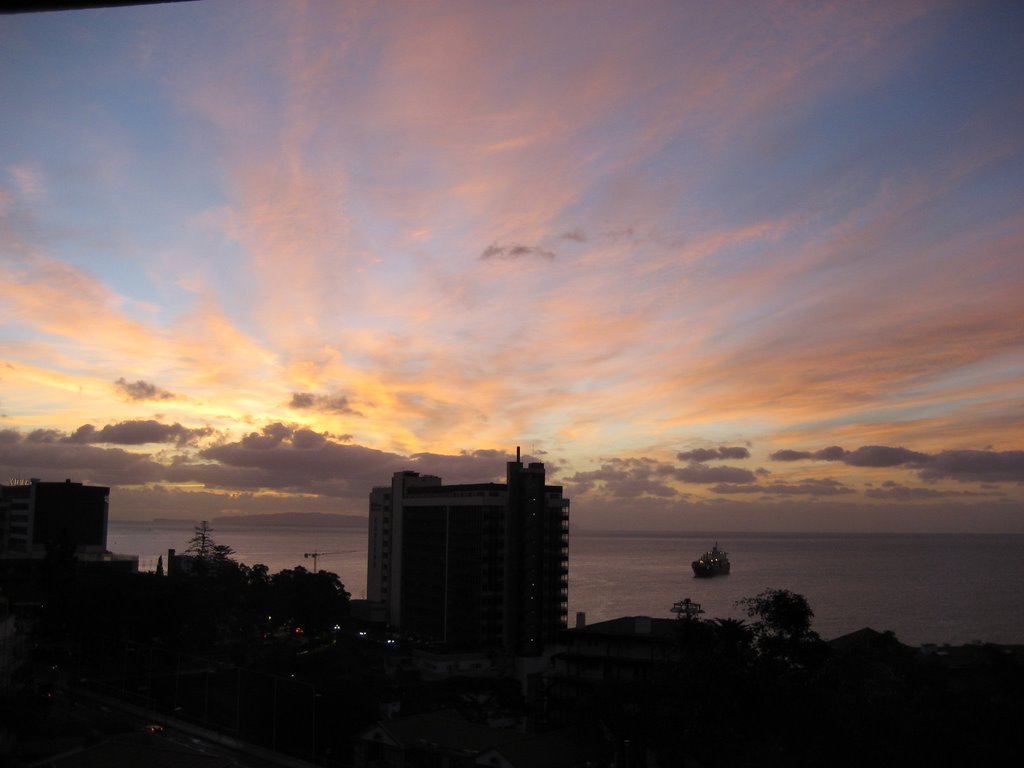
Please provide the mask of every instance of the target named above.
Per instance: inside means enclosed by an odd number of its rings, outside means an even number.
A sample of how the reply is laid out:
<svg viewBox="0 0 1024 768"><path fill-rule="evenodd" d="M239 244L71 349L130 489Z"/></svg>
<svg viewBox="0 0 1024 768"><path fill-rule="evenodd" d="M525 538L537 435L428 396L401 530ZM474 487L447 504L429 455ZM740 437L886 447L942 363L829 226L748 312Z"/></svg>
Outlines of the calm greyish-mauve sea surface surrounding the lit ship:
<svg viewBox="0 0 1024 768"><path fill-rule="evenodd" d="M367 531L341 527L222 526L218 544L270 572L302 565L341 577L365 597ZM168 549L184 551L188 523L112 522L108 548L154 570ZM871 627L922 643L1024 643L1024 536L731 534L719 539L732 572L697 580L690 561L714 537L573 532L569 624L624 615L671 617L673 603L699 602L707 617L743 617L736 600L764 589L804 595L824 638Z"/></svg>

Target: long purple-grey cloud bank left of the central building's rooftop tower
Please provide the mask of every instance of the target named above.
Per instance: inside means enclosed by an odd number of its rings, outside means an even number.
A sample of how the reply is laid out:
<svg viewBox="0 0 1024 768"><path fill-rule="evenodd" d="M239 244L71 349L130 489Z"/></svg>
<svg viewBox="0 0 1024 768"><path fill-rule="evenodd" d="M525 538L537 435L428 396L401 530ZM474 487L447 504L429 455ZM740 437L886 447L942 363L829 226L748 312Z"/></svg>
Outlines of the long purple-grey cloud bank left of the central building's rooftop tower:
<svg viewBox="0 0 1024 768"><path fill-rule="evenodd" d="M329 511L338 511L338 500L357 500L355 509L361 509L370 488L387 482L399 470L439 474L450 482L500 480L505 462L512 458L499 451L400 456L351 444L350 435L282 423L205 447L195 446L199 437L215 434L209 427L187 429L152 421L99 429L84 425L72 433L0 430L0 474L5 479L67 477L103 485L165 482L241 493L315 495L327 500ZM155 443L166 446L160 449L159 457L156 452L117 447Z"/></svg>

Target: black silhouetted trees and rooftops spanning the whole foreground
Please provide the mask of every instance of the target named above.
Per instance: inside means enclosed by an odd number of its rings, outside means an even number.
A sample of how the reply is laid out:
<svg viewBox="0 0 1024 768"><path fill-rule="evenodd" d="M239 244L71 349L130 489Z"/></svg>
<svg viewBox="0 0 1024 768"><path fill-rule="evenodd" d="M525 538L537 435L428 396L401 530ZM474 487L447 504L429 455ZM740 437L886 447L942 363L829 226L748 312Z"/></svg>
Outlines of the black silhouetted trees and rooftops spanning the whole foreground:
<svg viewBox="0 0 1024 768"><path fill-rule="evenodd" d="M190 549L188 567L167 575L47 563L30 663L0 700L6 764L31 764L47 740L137 730L110 715L70 718L88 695L337 766L352 764L353 744L385 707L587 732L589 755L597 743L603 756L592 764L632 768L941 766L1024 746L1024 669L1013 649L929 654L871 631L828 643L807 601L786 590L740 601L742 621L672 620L664 652L642 674L553 664L527 700L508 678L423 679L406 664L407 644L352 621L334 573L270 574L237 563L212 537ZM435 757L414 750L406 759Z"/></svg>

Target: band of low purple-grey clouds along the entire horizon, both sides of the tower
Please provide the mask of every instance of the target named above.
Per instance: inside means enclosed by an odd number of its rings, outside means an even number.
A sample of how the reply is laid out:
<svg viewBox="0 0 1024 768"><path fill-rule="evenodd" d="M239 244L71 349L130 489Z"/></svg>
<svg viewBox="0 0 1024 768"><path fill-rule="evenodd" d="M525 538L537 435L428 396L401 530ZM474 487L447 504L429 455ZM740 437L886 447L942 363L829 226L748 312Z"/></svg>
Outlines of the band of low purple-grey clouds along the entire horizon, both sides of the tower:
<svg viewBox="0 0 1024 768"><path fill-rule="evenodd" d="M296 393L302 395L303 393ZM299 407L321 401L299 397ZM303 404L307 403L307 406ZM335 402L335 406L347 406ZM153 445L152 451L125 446ZM560 482L587 515L605 515L629 527L636 515L647 519L679 519L693 510L719 514L729 509L754 509L763 502L786 507L829 500L837 504L860 493L840 479L772 480L763 468L733 464L750 459L746 447L695 449L677 455L680 463L649 458L612 458L599 469L567 474L548 462L550 481ZM233 441L218 437L210 427L188 428L155 420L126 421L74 432L0 430L0 476L72 478L124 487L117 492L115 516L158 515L197 518L237 511L318 511L361 513L371 487L386 483L393 472L414 470L437 474L446 482L501 481L511 452L466 451L402 456L352 442L351 435L334 435L284 423L269 424ZM918 487L887 480L868 485L863 497L879 503L964 504L1004 503L998 482L1024 479L1024 452L948 451L929 455L902 447L867 445L855 451L831 446L815 452L780 451L776 462L824 461L855 467L902 468L925 481L955 479L978 482L976 490ZM531 461L528 457L526 461ZM188 493L159 483L186 485ZM151 487L139 487L146 486ZM695 493L716 495L708 501ZM204 490L205 489L205 490ZM270 492L270 494L267 494ZM281 496L290 495L290 496ZM836 500L836 501L831 501ZM126 509L123 505L132 505ZM795 508L795 507L794 507ZM714 512L715 510L718 512ZM829 508L831 509L831 508ZM821 510L819 510L820 512ZM658 517L660 516L660 517ZM591 518L593 519L593 518Z"/></svg>

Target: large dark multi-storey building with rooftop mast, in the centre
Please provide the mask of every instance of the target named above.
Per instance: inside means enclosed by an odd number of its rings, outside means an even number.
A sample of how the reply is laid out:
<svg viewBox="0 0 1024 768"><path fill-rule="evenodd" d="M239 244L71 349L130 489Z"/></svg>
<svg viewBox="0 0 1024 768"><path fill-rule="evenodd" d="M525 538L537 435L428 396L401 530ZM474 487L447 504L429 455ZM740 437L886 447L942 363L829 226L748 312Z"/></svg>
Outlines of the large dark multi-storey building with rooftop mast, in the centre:
<svg viewBox="0 0 1024 768"><path fill-rule="evenodd" d="M370 494L367 598L408 637L535 655L568 612L568 508L519 451L504 483L396 472Z"/></svg>

